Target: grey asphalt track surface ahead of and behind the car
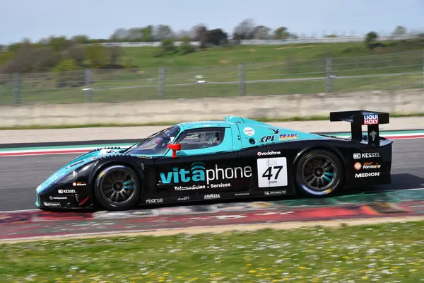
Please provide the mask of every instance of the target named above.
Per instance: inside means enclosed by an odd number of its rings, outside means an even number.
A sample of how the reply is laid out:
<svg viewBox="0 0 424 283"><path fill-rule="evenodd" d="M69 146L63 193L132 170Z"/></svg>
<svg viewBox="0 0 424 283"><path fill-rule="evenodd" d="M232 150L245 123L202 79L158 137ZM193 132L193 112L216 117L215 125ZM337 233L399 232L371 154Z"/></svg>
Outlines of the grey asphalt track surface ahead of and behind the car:
<svg viewBox="0 0 424 283"><path fill-rule="evenodd" d="M0 211L36 209L35 187L79 154L0 158ZM424 187L424 139L394 141L392 183L372 190ZM361 188L360 190L370 190Z"/></svg>

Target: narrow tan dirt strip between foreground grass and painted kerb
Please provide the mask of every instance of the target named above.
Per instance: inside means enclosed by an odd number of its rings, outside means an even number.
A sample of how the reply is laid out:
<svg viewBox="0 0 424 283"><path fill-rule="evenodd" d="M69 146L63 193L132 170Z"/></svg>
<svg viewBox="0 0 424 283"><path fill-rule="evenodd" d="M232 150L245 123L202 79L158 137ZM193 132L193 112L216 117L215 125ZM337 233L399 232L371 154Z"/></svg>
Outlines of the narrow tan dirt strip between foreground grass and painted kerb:
<svg viewBox="0 0 424 283"><path fill-rule="evenodd" d="M368 219L343 219L328 221L293 221L284 223L267 223L267 224L240 224L240 225L222 225L222 226L206 226L206 227L189 227L184 229L163 229L151 231L122 231L112 233L88 233L75 236L42 236L34 238L0 240L0 243L23 243L33 241L66 241L76 238L105 238L120 236L169 236L177 233L198 234L198 233L224 233L228 231L255 231L260 229L298 229L300 227L324 226L329 228L341 228L343 226L358 226L382 223L399 223L409 221L423 221L424 216L404 216L404 217L375 217Z"/></svg>

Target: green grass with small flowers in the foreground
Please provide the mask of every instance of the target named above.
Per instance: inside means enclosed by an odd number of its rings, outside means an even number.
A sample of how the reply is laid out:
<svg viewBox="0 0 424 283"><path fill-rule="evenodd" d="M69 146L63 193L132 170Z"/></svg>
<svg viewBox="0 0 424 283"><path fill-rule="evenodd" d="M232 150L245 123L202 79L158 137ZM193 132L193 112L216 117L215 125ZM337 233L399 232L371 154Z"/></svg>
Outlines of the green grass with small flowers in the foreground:
<svg viewBox="0 0 424 283"><path fill-rule="evenodd" d="M424 222L0 245L1 282L419 282ZM350 280L350 281L349 281Z"/></svg>

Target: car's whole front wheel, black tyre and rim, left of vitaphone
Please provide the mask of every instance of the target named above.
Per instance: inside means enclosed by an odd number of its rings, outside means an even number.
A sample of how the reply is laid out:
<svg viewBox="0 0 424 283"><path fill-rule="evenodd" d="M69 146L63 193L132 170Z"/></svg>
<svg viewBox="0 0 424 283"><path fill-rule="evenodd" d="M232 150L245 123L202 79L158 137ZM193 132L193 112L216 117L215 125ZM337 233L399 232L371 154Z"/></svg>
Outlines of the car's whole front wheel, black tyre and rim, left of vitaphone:
<svg viewBox="0 0 424 283"><path fill-rule="evenodd" d="M107 210L131 209L140 199L139 178L128 166L107 166L95 179L94 194L97 202Z"/></svg>

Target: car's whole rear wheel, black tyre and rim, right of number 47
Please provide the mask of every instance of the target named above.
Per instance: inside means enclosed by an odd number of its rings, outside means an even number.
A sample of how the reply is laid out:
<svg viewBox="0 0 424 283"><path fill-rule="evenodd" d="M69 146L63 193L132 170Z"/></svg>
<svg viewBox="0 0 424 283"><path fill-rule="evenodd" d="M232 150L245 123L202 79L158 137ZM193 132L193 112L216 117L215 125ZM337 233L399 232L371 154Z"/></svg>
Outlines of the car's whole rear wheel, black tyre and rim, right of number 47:
<svg viewBox="0 0 424 283"><path fill-rule="evenodd" d="M296 166L298 190L309 197L328 197L343 186L344 168L340 158L324 149L303 154Z"/></svg>

